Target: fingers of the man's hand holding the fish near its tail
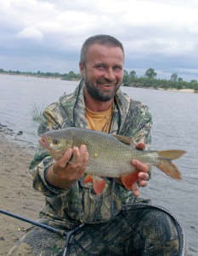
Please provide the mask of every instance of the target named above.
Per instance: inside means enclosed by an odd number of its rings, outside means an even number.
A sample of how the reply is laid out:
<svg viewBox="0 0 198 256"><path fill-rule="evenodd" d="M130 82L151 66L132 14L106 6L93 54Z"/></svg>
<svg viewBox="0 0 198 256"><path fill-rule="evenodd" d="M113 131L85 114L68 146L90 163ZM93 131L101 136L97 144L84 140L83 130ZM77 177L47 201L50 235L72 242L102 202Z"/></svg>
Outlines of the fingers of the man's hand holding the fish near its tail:
<svg viewBox="0 0 198 256"><path fill-rule="evenodd" d="M136 144L136 148L137 149L144 149L144 143L137 143ZM145 165L144 163L140 162L139 160L132 160L132 164L133 166L136 167L136 169L139 171L139 186L141 187L145 187L147 185L147 180L149 179L149 174L148 171L150 169L149 166ZM134 183L132 185L132 190L133 190L133 194L136 196L139 196L139 186L137 183Z"/></svg>

